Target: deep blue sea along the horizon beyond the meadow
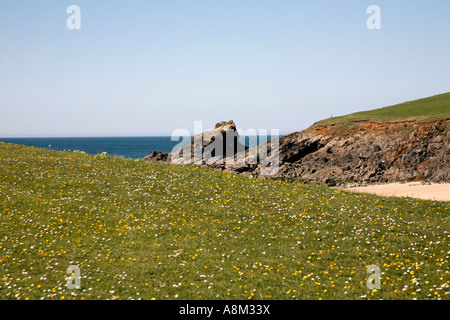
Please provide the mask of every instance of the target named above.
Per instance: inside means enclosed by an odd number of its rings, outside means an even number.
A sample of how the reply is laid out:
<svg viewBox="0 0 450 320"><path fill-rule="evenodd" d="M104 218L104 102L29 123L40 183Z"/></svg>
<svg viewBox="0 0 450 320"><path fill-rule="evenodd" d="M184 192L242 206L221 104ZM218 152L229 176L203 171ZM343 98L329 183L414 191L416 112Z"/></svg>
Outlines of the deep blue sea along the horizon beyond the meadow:
<svg viewBox="0 0 450 320"><path fill-rule="evenodd" d="M241 137L241 142L252 146L252 139ZM0 138L0 141L53 150L79 150L90 154L106 152L125 158L143 158L152 151L171 152L179 141L171 137L99 137L99 138ZM181 141L181 140L180 140Z"/></svg>

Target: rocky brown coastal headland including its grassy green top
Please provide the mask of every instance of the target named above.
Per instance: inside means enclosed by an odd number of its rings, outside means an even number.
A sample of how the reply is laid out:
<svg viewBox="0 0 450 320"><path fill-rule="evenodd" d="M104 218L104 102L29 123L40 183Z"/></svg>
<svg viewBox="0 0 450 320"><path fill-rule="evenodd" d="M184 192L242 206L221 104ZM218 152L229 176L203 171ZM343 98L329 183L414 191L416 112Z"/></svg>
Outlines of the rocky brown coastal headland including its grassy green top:
<svg viewBox="0 0 450 320"><path fill-rule="evenodd" d="M200 138L197 147L195 138ZM235 123L224 121L182 148L186 153L196 149L197 158L180 161L177 151L152 152L145 160L328 185L450 182L450 92L321 120L253 148L243 147L238 138ZM225 159L233 161L216 161L217 155L224 157L223 150Z"/></svg>

